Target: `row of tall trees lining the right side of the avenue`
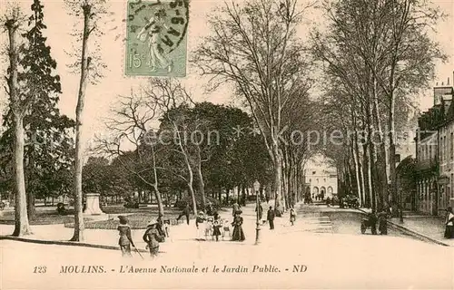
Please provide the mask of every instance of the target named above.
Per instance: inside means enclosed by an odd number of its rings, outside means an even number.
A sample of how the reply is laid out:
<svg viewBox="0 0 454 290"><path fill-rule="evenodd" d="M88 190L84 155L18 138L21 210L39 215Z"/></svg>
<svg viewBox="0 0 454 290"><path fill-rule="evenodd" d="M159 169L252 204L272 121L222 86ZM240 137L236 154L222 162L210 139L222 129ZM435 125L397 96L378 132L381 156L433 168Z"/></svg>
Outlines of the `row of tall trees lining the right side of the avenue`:
<svg viewBox="0 0 454 290"><path fill-rule="evenodd" d="M442 16L426 1L324 2L325 33L314 32L313 54L329 90L323 100L326 130L341 130L346 146L328 146L344 189L362 205L397 214L396 147L415 115L418 92L444 59L429 32ZM347 146L348 145L348 146Z"/></svg>

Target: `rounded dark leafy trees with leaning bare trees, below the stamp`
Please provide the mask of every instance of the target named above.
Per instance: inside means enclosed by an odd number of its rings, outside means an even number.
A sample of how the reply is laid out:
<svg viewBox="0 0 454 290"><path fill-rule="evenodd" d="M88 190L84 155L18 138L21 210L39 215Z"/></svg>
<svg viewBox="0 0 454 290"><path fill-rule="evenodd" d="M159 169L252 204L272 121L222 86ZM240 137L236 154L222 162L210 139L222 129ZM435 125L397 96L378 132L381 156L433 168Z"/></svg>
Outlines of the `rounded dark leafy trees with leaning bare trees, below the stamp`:
<svg viewBox="0 0 454 290"><path fill-rule="evenodd" d="M204 210L206 197L221 199L222 189L245 189L255 179L269 182L262 136L254 133L248 114L192 102L190 93L174 80L152 79L139 92L121 97L106 125L112 137L97 138L94 151L112 162L97 162L96 171L113 168L129 180L130 192L152 191L162 215L163 196L168 199L169 193L187 189L197 212L197 195ZM93 166L88 162L84 172L93 171ZM84 177L85 183L89 180ZM97 180L92 188L108 184Z"/></svg>

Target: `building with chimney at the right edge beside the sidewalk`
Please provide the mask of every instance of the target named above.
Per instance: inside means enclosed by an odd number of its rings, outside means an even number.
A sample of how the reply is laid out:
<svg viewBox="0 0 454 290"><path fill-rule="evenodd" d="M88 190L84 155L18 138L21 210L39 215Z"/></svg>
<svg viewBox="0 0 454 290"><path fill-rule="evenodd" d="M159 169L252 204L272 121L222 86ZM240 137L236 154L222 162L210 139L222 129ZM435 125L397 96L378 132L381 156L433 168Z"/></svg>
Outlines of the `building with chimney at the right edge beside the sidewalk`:
<svg viewBox="0 0 454 290"><path fill-rule="evenodd" d="M418 119L416 141L417 200L420 212L443 216L454 206L454 88L434 88L434 106Z"/></svg>

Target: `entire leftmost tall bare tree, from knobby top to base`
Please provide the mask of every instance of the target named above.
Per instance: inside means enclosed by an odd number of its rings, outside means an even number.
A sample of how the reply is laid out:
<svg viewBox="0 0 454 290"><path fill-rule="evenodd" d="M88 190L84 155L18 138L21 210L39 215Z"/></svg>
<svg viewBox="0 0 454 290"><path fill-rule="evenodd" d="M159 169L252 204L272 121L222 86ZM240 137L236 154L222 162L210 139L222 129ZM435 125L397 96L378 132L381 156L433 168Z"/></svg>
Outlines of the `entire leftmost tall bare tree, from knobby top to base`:
<svg viewBox="0 0 454 290"><path fill-rule="evenodd" d="M24 173L24 117L30 99L21 90L19 83L19 54L20 38L19 29L25 22L25 16L17 5L11 5L5 12L1 21L8 34L8 75L5 77L9 96L9 105L13 113L14 130L14 172L15 172L15 231L13 236L30 235L31 229L27 218L26 194L25 194L25 173Z"/></svg>

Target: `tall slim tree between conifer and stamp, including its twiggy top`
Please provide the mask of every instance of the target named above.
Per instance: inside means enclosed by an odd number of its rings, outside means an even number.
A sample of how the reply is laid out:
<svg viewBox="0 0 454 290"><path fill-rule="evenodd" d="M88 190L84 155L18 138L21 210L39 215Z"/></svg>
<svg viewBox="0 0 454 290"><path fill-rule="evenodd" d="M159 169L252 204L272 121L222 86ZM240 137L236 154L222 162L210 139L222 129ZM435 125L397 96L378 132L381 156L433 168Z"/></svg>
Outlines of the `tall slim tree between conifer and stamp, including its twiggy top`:
<svg viewBox="0 0 454 290"><path fill-rule="evenodd" d="M83 169L83 114L85 91L88 82L95 82L101 76L100 68L104 65L99 60L99 49L89 50L88 43L91 38L99 35L101 31L97 28L98 21L105 14L105 0L65 0L70 14L74 14L78 19L83 19L82 32L76 32L75 35L80 37L80 51L77 51L77 61L74 67L80 68L80 81L77 93L77 106L75 108L75 159L74 159L74 236L72 241L84 240L84 215L83 209L83 192L82 192L82 169Z"/></svg>

